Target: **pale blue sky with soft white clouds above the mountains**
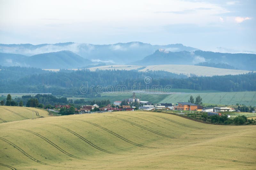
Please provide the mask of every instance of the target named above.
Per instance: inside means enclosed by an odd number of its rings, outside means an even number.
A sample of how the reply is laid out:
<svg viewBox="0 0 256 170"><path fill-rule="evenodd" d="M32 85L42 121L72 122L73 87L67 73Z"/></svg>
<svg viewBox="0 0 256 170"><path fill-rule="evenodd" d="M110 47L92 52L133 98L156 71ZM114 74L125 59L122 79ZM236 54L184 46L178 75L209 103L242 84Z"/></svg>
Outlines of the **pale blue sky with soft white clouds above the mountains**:
<svg viewBox="0 0 256 170"><path fill-rule="evenodd" d="M140 41L256 54L254 0L0 0L0 43Z"/></svg>

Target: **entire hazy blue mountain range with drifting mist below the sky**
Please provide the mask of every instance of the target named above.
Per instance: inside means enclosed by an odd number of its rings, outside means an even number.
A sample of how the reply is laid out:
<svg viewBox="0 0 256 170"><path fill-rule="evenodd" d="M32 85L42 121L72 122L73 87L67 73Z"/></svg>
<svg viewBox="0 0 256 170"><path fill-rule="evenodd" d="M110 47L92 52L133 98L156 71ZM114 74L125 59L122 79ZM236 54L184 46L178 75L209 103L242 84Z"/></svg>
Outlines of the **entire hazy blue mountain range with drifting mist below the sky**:
<svg viewBox="0 0 256 170"><path fill-rule="evenodd" d="M1 65L44 69L86 68L95 64L186 64L255 70L255 54L201 51L182 44L151 45L128 42L108 45L87 43L0 44Z"/></svg>

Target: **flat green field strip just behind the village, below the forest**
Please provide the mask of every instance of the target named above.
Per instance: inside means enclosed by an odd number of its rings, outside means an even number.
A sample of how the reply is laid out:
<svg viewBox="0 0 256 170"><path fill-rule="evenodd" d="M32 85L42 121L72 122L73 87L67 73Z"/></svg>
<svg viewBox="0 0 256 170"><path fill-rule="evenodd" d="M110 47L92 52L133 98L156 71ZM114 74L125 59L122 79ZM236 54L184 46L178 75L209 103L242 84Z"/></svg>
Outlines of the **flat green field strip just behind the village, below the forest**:
<svg viewBox="0 0 256 170"><path fill-rule="evenodd" d="M192 92L192 90L186 93L180 94L139 94L136 96L142 101L151 101L153 103L176 103L176 102L187 102L190 95L200 95L203 98L205 105L236 105L236 103L244 104L246 106L256 106L256 92ZM130 98L132 94L112 93L101 94L100 98L85 98L85 100L103 100L109 99L112 103L117 100L123 100ZM79 99L79 98L68 98L68 99Z"/></svg>

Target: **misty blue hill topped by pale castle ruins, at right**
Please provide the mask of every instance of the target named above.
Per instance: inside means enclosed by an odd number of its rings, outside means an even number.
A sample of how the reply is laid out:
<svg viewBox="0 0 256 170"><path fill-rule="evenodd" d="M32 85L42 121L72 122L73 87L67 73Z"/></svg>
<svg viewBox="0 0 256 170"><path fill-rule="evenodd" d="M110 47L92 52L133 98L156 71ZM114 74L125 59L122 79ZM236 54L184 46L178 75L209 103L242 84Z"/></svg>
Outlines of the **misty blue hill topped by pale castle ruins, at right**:
<svg viewBox="0 0 256 170"><path fill-rule="evenodd" d="M230 67L239 70L255 70L255 54L230 54L215 53L211 51L196 50L193 52L180 51L171 52L166 50L156 50L155 53L146 56L144 59L132 62L136 65L156 65L156 64L186 64L194 65L198 63L228 64ZM216 67L216 66L215 66Z"/></svg>

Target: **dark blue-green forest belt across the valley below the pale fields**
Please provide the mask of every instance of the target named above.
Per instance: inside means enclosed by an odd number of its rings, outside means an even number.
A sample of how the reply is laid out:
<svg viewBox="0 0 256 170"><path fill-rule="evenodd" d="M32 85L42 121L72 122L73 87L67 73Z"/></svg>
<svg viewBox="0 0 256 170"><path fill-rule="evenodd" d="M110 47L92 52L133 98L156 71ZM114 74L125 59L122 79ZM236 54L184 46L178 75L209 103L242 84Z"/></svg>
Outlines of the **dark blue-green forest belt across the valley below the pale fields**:
<svg viewBox="0 0 256 170"><path fill-rule="evenodd" d="M144 81L150 77L149 83ZM171 85L172 88L195 90L218 90L223 92L256 91L256 73L242 75L226 75L213 77L187 77L166 71L137 70L60 70L44 71L35 68L10 67L0 71L0 93L46 93L54 95L82 95L81 85L125 85L131 89L133 85ZM135 88L136 89L136 88ZM95 89L93 90L95 92ZM89 94L87 94L89 95ZM95 93L90 94L95 96ZM90 97L90 96L87 96Z"/></svg>

